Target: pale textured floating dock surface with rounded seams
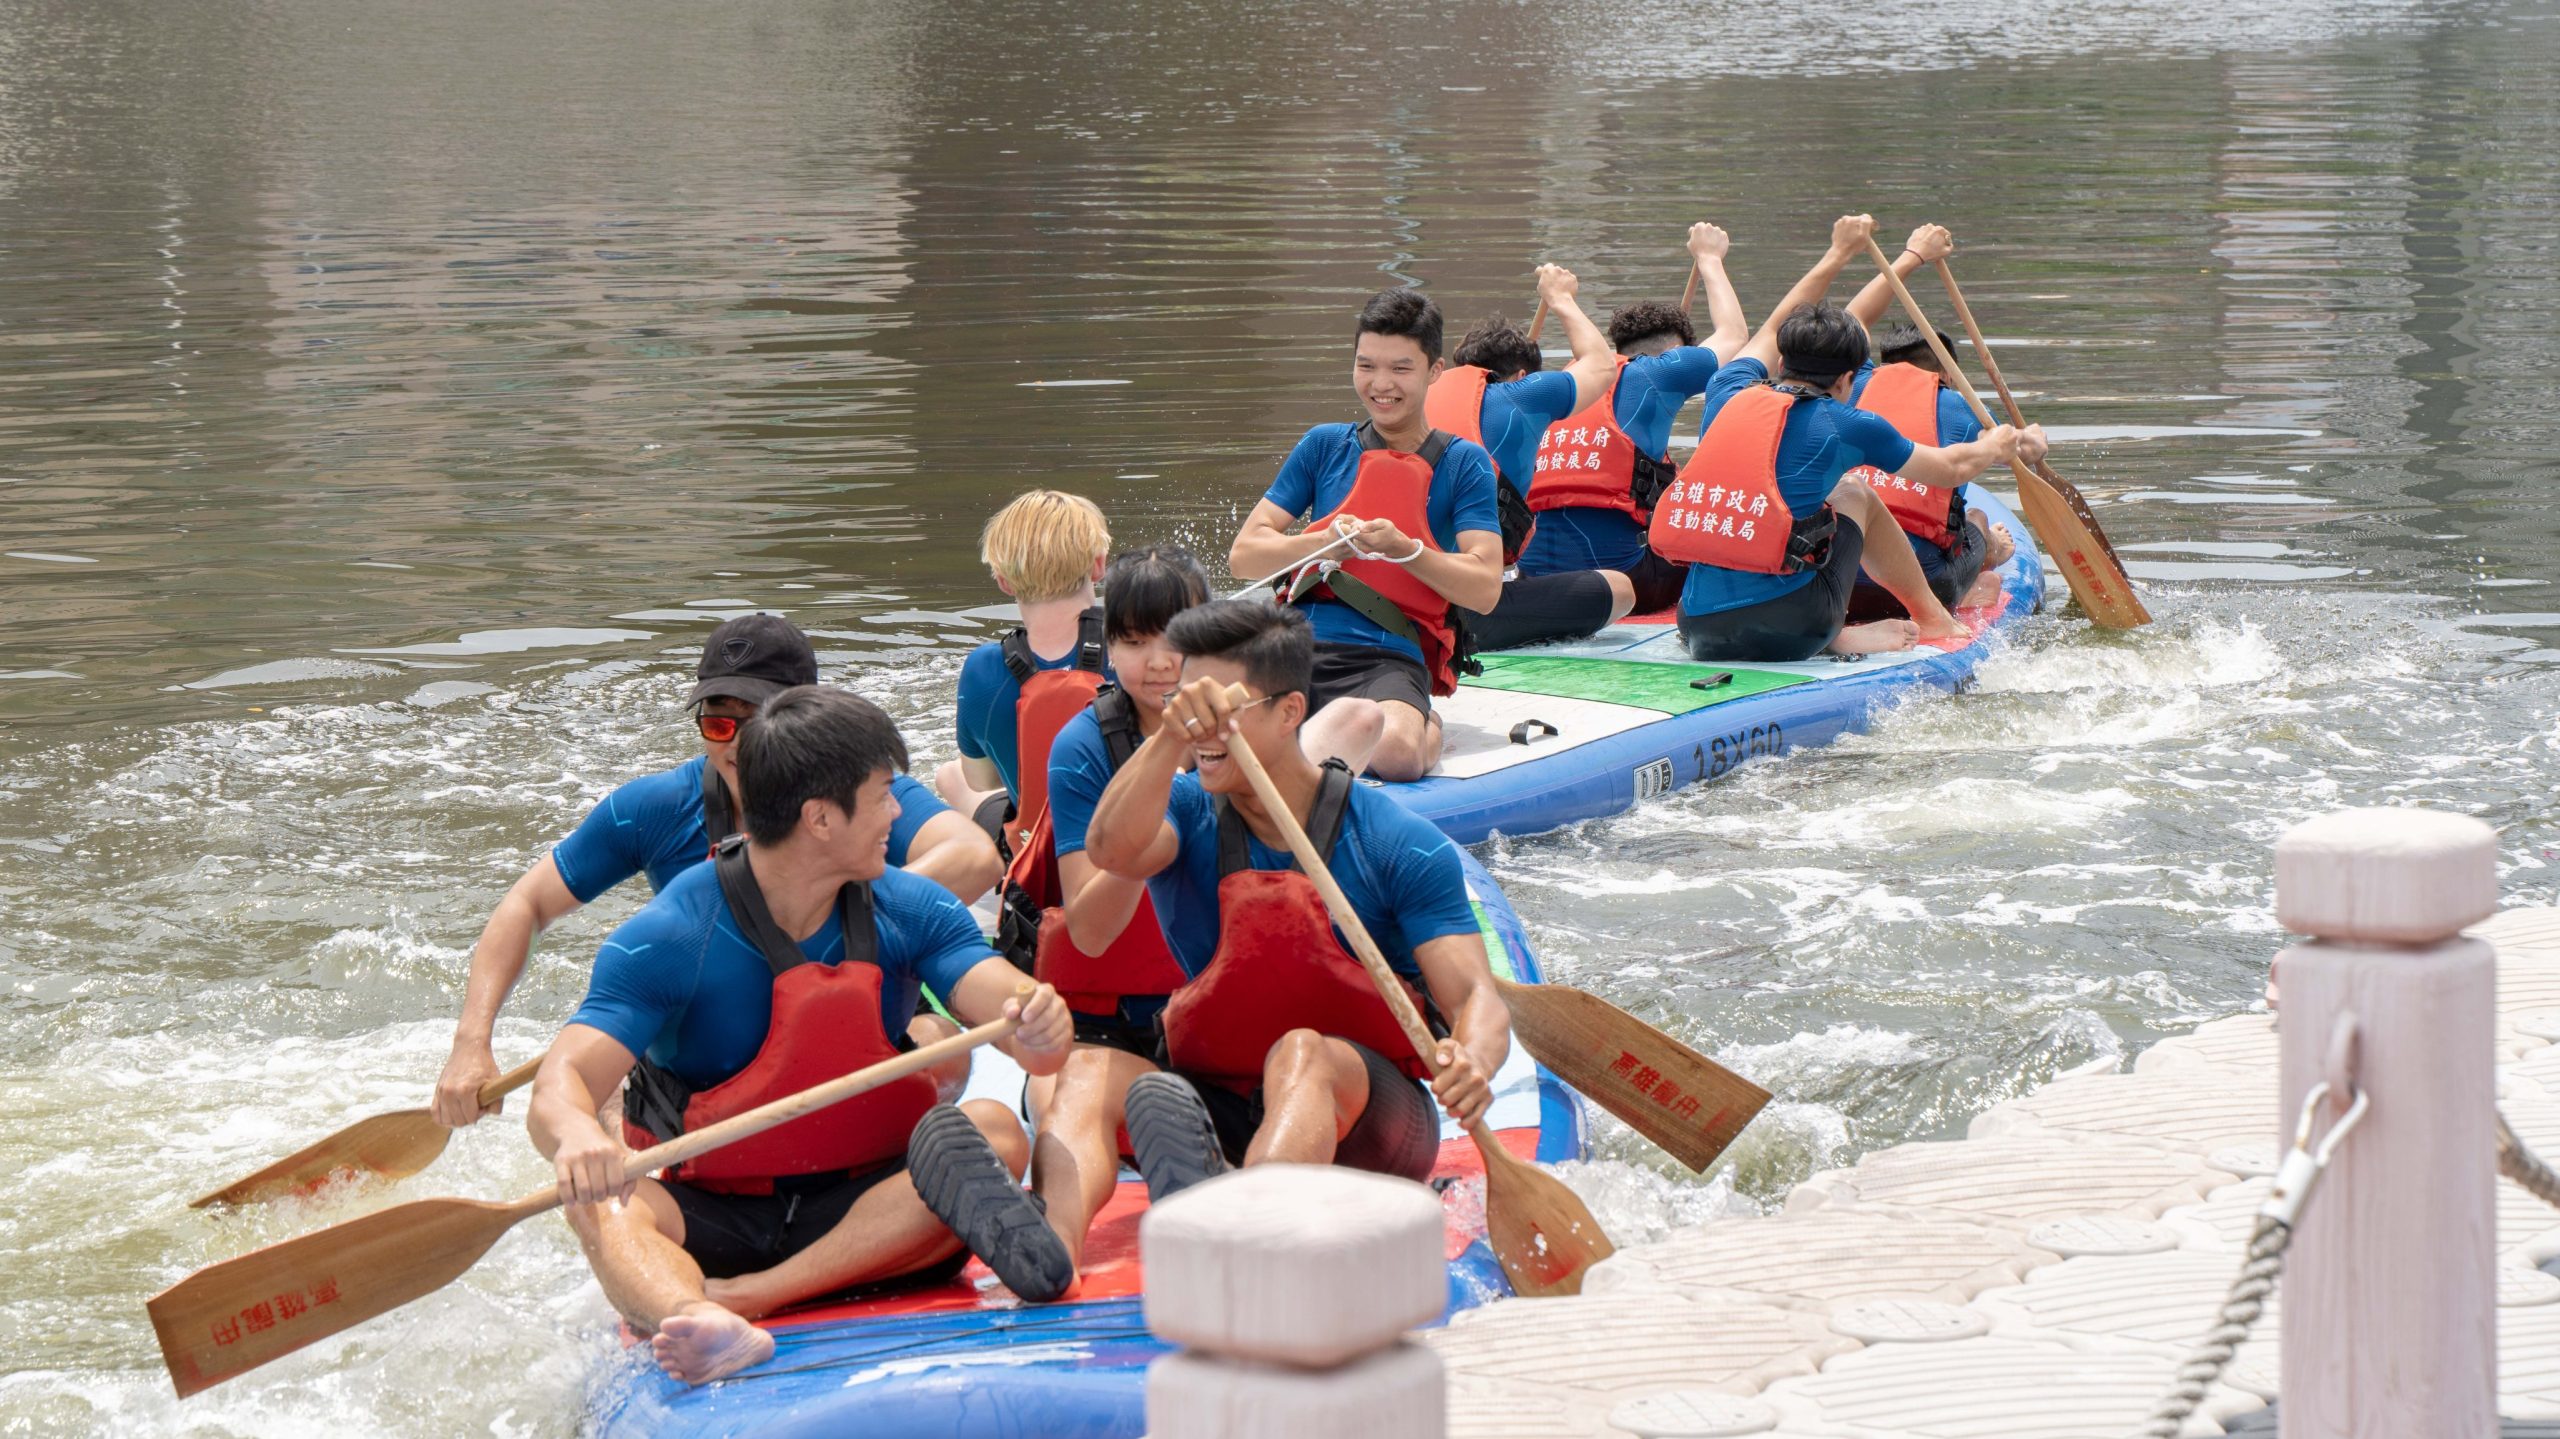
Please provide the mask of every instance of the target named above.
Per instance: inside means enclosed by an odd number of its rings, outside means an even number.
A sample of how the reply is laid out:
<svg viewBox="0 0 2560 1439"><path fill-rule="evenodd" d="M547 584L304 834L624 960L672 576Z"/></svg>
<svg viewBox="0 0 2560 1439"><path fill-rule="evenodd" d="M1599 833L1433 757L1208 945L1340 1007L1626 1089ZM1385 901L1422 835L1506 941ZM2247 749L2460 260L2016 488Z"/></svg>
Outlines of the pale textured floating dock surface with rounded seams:
<svg viewBox="0 0 2560 1439"><path fill-rule="evenodd" d="M2499 947L2499 1106L2560 1157L2560 909L2473 935ZM1784 1214L1620 1250L1580 1298L1426 1337L1449 1434L2130 1434L2240 1267L2278 1129L2266 1014L2163 1040L2130 1073L2063 1075L1966 1139L1818 1173ZM2560 1278L2540 1270L2560 1262L2560 1209L2504 1180L2499 1262L2499 1411L2511 1434L2560 1434ZM2273 1434L2276 1314L2186 1434Z"/></svg>

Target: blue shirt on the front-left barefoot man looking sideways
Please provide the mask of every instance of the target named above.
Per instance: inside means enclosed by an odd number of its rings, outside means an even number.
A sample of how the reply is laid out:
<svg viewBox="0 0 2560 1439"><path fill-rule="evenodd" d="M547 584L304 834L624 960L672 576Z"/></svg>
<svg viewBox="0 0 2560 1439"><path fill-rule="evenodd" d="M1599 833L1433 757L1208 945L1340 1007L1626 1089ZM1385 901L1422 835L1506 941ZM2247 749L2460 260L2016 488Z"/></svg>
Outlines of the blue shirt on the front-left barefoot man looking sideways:
<svg viewBox="0 0 2560 1439"><path fill-rule="evenodd" d="M929 878L881 873L870 909L881 932L881 1032L896 1042L916 1017L919 983L950 996L993 950L970 912ZM842 919L829 912L801 953L822 965L842 960ZM676 876L604 940L568 1022L612 1034L694 1088L748 1068L773 1024L773 968L730 914L714 865Z"/></svg>

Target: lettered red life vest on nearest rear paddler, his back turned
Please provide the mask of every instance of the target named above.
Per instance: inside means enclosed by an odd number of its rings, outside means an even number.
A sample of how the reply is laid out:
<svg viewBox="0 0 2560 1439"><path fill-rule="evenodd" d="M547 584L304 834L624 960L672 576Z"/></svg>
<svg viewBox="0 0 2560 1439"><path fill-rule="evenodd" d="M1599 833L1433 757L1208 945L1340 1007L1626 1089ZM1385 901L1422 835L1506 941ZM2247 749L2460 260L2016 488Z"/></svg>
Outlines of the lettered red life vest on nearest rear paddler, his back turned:
<svg viewBox="0 0 2560 1439"><path fill-rule="evenodd" d="M1795 402L1766 384L1725 399L1654 507L1644 533L1654 553L1743 574L1797 574L1830 556L1830 504L1797 517L1777 484L1777 443Z"/></svg>

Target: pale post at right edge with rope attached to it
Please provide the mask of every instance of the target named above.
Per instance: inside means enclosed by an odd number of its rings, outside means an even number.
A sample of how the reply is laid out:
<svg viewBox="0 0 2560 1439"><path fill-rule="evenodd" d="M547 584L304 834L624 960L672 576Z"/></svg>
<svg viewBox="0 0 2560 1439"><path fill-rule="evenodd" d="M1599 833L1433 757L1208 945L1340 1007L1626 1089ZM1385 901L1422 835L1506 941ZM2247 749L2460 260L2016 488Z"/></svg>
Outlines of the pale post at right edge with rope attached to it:
<svg viewBox="0 0 2560 1439"><path fill-rule="evenodd" d="M2499 976L2460 935L2499 906L2496 858L2488 824L2427 809L2348 809L2276 842L2276 919L2309 937L2284 953L2281 1137L2324 1078L2373 1101L2286 1260L2284 1439L2499 1434Z"/></svg>

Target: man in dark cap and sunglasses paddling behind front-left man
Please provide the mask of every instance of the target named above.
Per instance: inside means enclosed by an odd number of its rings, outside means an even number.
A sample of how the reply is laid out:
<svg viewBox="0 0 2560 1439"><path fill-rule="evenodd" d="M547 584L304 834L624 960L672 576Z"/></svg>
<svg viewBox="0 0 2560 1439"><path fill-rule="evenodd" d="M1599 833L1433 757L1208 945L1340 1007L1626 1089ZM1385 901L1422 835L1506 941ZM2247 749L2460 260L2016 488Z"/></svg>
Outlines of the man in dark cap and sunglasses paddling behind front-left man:
<svg viewBox="0 0 2560 1439"><path fill-rule="evenodd" d="M740 615L712 630L694 673L686 709L701 735L701 753L607 794L489 914L471 947L453 1055L435 1081L438 1124L463 1127L497 1111L479 1106L479 1088L497 1078L489 1037L543 929L635 873L648 876L650 891L663 891L737 832L737 725L776 694L817 684L817 650L781 615ZM960 904L975 904L1004 878L993 840L934 799L932 789L899 773L891 794L899 801L899 819L888 830L891 865L940 883ZM932 1014L922 1022L932 1022ZM927 1034L932 1037L940 1032Z"/></svg>

